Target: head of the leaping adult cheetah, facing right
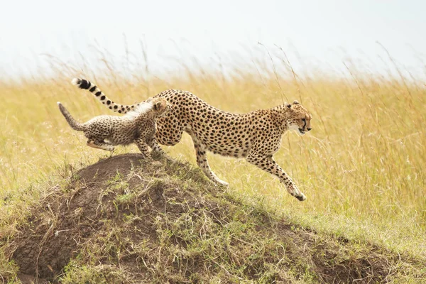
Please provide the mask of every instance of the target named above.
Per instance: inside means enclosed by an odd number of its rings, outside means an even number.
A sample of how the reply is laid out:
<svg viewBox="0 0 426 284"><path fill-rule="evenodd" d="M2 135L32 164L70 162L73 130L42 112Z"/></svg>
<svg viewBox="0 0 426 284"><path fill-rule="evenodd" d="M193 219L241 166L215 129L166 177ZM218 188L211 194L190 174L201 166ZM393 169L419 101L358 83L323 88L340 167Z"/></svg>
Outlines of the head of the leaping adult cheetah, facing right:
<svg viewBox="0 0 426 284"><path fill-rule="evenodd" d="M299 135L303 135L312 129L310 125L312 114L302 104L294 101L293 104L286 104L285 109L288 113L288 129L297 131Z"/></svg>

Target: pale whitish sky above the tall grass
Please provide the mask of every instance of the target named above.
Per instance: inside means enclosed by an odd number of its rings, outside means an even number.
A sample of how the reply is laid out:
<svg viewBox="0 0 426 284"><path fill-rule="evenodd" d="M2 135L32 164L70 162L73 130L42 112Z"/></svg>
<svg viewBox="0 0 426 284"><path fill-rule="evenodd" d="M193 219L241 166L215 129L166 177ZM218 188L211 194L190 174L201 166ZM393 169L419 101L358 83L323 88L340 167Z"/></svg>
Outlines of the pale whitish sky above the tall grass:
<svg viewBox="0 0 426 284"><path fill-rule="evenodd" d="M278 45L306 65L343 70L350 57L379 66L386 53L377 41L398 64L421 77L426 72L422 0L39 0L0 4L0 75L48 73L44 54L76 62L81 53L96 65L93 46L124 58L124 34L134 60L142 58L140 41L147 46L153 72L191 56L208 65L217 53L228 55L224 63L235 55L250 62L267 56L251 52L262 50L258 42L271 50Z"/></svg>

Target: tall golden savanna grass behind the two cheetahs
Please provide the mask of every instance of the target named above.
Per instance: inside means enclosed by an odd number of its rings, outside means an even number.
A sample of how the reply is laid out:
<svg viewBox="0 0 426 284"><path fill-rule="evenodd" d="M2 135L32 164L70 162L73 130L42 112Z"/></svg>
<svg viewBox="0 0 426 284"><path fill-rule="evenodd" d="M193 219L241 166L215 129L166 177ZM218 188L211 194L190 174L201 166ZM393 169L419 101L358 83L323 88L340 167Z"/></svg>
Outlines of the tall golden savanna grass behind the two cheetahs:
<svg viewBox="0 0 426 284"><path fill-rule="evenodd" d="M108 65L107 65L108 66ZM184 89L233 113L267 109L297 99L314 119L305 136L288 132L275 160L307 196L290 197L278 179L245 160L209 155L212 170L243 197L300 226L426 258L426 86L402 74L278 75L275 67L186 70L166 79L125 77L114 67L94 74L62 66L48 80L0 81L0 229L13 232L27 204L63 168L79 168L109 155L89 148L70 129L56 102L80 121L109 111L70 83L95 82L114 102L131 104L165 89ZM392 73L393 74L393 73ZM195 165L190 137L165 147ZM135 146L118 153L137 152ZM5 233L6 234L6 233Z"/></svg>

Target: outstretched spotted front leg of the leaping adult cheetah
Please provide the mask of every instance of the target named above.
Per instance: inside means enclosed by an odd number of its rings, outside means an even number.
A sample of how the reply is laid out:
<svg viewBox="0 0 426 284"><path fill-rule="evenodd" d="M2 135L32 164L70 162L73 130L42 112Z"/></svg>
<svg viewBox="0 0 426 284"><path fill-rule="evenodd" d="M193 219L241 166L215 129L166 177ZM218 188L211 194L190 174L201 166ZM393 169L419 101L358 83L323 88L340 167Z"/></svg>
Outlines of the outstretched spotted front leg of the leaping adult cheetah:
<svg viewBox="0 0 426 284"><path fill-rule="evenodd" d="M258 168L261 168L262 170L265 170L266 172L278 177L280 182L283 182L285 185L288 193L296 197L297 200L306 200L305 195L299 190L299 188L297 188L297 185L295 185L290 176L284 172L284 170L275 162L275 160L273 160L272 156L249 153L246 159L249 163L256 165Z"/></svg>

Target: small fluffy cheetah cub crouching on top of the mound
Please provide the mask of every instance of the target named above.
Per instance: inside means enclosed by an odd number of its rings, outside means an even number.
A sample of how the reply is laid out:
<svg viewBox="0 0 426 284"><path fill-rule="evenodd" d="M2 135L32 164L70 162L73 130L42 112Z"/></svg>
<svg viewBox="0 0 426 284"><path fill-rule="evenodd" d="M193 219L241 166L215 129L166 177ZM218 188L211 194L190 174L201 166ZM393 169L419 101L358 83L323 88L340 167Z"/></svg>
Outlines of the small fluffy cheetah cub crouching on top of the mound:
<svg viewBox="0 0 426 284"><path fill-rule="evenodd" d="M148 160L151 160L148 146L163 153L154 138L155 120L165 116L170 109L170 104L163 98L148 99L124 116L96 116L84 124L76 121L60 102L58 106L71 128L84 132L87 146L111 151L112 155L114 146L136 143Z"/></svg>

